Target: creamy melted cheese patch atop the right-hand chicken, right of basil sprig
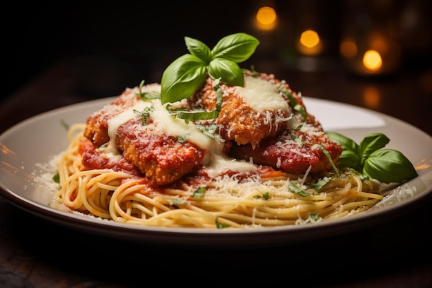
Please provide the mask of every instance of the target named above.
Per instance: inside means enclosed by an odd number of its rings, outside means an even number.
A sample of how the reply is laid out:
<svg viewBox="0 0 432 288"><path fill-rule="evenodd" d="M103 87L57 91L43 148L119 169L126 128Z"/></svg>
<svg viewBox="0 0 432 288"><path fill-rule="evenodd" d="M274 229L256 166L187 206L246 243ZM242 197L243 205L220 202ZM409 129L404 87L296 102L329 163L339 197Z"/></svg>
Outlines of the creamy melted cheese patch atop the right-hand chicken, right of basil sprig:
<svg viewBox="0 0 432 288"><path fill-rule="evenodd" d="M255 112L264 110L282 110L288 113L288 103L280 95L275 85L261 79L246 75L244 87L238 86L237 93L242 95L244 102Z"/></svg>

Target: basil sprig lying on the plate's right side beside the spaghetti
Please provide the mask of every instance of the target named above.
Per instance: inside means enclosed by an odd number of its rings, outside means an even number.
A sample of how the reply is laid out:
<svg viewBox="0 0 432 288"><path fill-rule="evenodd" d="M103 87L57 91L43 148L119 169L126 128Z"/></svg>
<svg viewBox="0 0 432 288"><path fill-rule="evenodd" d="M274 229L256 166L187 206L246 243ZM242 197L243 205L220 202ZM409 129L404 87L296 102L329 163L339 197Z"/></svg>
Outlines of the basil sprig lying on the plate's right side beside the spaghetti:
<svg viewBox="0 0 432 288"><path fill-rule="evenodd" d="M331 140L342 146L339 167L351 168L382 183L402 183L418 176L413 164L400 151L384 148L390 142L382 133L366 135L360 144L350 138L327 131Z"/></svg>

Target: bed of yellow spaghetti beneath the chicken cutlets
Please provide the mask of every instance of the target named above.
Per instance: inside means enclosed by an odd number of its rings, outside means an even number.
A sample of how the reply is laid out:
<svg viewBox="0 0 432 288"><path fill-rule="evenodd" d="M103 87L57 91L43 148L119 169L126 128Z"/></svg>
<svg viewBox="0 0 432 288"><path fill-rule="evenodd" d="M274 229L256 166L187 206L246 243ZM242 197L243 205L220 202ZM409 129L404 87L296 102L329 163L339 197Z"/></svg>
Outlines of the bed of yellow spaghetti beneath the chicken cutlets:
<svg viewBox="0 0 432 288"><path fill-rule="evenodd" d="M115 222L153 227L206 229L274 227L343 218L382 199L380 186L353 171L340 171L319 192L311 175L279 173L239 181L224 175L206 184L202 198L186 182L154 189L143 177L112 169L88 169L79 142L85 124L70 126L69 146L58 162L55 203ZM290 183L308 195L291 191Z"/></svg>

